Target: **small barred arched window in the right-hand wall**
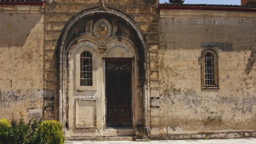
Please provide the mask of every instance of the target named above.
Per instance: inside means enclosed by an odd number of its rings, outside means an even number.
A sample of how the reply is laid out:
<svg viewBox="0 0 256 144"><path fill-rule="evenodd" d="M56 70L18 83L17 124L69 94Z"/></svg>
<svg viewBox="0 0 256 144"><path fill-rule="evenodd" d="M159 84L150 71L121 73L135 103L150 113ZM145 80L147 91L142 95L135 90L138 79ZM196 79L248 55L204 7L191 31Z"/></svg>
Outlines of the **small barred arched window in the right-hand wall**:
<svg viewBox="0 0 256 144"><path fill-rule="evenodd" d="M202 87L218 88L218 55L214 49L202 53Z"/></svg>

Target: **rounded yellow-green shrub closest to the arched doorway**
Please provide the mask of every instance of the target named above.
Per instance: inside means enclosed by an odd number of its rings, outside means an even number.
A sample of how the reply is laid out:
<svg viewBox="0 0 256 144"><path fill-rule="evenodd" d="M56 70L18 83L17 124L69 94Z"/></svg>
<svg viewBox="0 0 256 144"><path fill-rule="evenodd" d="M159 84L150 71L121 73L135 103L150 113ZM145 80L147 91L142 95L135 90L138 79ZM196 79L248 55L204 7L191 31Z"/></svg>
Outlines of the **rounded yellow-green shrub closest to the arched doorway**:
<svg viewBox="0 0 256 144"><path fill-rule="evenodd" d="M65 141L62 125L58 121L44 121L40 125L40 133L47 144L62 144Z"/></svg>

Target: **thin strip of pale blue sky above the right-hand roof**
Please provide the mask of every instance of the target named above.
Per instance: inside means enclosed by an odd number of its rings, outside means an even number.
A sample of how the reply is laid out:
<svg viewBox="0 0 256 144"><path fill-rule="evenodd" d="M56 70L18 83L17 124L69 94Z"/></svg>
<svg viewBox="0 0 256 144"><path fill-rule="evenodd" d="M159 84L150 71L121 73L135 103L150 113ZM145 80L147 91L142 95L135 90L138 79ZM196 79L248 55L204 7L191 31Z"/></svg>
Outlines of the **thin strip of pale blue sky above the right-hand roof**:
<svg viewBox="0 0 256 144"><path fill-rule="evenodd" d="M169 2L168 0L160 0L160 3ZM185 0L187 4L232 4L240 5L241 0Z"/></svg>

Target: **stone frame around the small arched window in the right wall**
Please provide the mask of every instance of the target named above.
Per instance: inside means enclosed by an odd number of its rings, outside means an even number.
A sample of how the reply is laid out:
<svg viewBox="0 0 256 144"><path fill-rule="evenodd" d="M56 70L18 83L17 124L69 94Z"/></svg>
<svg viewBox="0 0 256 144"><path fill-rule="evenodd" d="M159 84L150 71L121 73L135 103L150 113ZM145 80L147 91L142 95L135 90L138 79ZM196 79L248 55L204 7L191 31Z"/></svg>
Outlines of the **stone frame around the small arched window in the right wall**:
<svg viewBox="0 0 256 144"><path fill-rule="evenodd" d="M206 78L205 78L205 55L206 53L211 52L214 55L214 85L206 85ZM202 77L202 89L219 89L219 57L218 52L216 49L212 47L207 47L205 50L202 51L201 55L201 77Z"/></svg>

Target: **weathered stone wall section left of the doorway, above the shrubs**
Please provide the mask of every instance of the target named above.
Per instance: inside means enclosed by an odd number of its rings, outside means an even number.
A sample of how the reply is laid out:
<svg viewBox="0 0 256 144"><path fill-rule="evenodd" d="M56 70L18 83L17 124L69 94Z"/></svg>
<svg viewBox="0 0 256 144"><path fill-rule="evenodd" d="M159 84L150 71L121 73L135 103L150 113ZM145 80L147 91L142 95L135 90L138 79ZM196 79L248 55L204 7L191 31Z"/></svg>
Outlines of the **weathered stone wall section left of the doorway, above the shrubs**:
<svg viewBox="0 0 256 144"><path fill-rule="evenodd" d="M0 118L43 116L42 6L0 5Z"/></svg>

